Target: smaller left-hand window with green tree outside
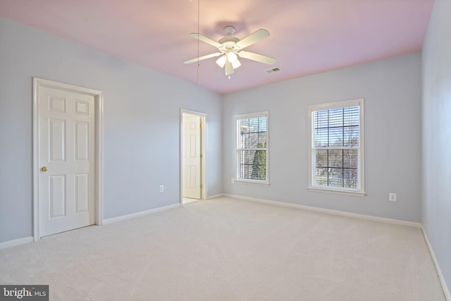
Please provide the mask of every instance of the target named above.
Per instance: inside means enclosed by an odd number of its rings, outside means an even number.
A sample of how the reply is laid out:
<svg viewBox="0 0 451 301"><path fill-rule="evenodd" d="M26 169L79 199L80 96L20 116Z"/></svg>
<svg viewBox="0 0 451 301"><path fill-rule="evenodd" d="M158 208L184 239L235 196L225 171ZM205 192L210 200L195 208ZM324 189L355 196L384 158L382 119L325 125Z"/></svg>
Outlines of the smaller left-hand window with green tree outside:
<svg viewBox="0 0 451 301"><path fill-rule="evenodd" d="M235 116L236 181L268 185L268 112Z"/></svg>

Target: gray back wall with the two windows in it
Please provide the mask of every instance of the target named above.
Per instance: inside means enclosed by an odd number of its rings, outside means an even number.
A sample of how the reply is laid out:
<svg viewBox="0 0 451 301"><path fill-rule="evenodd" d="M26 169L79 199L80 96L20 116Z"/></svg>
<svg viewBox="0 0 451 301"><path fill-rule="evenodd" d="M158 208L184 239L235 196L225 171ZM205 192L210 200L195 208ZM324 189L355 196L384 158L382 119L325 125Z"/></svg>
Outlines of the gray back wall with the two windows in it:
<svg viewBox="0 0 451 301"><path fill-rule="evenodd" d="M308 106L357 98L365 99L367 195L309 192ZM233 116L258 111L269 111L270 185L231 184L235 156ZM421 54L226 94L223 137L226 193L419 222ZM388 201L389 192L397 193L397 202Z"/></svg>

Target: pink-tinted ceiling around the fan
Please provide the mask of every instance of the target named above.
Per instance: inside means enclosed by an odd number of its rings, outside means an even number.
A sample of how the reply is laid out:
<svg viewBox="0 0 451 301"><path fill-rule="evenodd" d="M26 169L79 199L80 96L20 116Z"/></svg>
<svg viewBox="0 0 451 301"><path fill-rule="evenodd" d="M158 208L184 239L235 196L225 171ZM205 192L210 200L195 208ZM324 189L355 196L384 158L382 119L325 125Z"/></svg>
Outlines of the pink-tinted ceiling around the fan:
<svg viewBox="0 0 451 301"><path fill-rule="evenodd" d="M227 93L419 51L432 6L433 0L0 0L0 17ZM241 59L230 80L216 59L184 64L198 55L190 37L198 12L199 32L216 41L226 25L240 39L268 30L246 50L277 63ZM216 50L199 43L199 56Z"/></svg>

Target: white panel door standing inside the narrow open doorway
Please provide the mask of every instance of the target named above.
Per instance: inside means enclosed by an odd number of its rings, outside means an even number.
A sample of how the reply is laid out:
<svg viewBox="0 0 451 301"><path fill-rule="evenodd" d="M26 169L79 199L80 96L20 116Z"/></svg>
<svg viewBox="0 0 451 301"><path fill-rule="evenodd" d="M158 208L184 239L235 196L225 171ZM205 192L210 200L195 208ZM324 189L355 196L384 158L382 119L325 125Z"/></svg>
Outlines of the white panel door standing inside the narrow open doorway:
<svg viewBox="0 0 451 301"><path fill-rule="evenodd" d="M200 116L183 113L182 178L183 197L201 198L201 123Z"/></svg>

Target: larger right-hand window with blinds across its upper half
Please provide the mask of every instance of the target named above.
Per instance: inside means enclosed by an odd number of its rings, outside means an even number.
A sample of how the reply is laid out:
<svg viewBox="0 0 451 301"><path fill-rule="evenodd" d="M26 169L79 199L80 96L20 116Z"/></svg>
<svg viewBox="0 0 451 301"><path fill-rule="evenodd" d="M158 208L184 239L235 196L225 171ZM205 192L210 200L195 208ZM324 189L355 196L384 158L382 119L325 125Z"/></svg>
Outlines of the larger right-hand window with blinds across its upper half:
<svg viewBox="0 0 451 301"><path fill-rule="evenodd" d="M364 99L309 107L309 189L364 195Z"/></svg>

